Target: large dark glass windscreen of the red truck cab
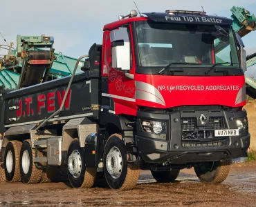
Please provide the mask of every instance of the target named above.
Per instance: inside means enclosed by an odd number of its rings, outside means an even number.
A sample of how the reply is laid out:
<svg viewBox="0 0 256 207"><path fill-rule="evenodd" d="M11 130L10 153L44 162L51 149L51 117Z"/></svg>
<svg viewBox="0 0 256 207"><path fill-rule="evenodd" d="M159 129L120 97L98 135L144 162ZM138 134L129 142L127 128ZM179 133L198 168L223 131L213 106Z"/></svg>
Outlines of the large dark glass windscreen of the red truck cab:
<svg viewBox="0 0 256 207"><path fill-rule="evenodd" d="M214 63L220 63L217 68L239 68L232 30L230 26L222 29L226 32L219 32L214 26L137 22L140 66L192 63L183 67L210 68Z"/></svg>

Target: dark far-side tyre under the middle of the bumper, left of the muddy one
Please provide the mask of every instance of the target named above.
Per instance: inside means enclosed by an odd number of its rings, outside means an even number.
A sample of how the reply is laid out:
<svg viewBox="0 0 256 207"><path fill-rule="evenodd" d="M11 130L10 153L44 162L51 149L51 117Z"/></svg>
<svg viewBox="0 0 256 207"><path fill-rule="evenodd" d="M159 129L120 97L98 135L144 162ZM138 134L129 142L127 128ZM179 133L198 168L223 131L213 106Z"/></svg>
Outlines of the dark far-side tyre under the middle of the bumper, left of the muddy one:
<svg viewBox="0 0 256 207"><path fill-rule="evenodd" d="M153 171L151 173L159 183L173 182L178 177L180 170Z"/></svg>

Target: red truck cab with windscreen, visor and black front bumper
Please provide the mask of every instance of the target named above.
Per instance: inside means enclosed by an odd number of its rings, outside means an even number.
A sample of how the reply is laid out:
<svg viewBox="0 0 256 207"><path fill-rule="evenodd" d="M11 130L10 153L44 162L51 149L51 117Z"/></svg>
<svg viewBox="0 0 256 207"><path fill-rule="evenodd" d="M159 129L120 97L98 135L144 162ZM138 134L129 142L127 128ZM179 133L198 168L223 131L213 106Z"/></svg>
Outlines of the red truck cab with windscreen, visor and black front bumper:
<svg viewBox="0 0 256 207"><path fill-rule="evenodd" d="M104 26L103 116L129 120L136 155L156 179L170 179L158 171L168 166L194 166L216 181L250 144L246 58L232 20L188 11L120 19Z"/></svg>

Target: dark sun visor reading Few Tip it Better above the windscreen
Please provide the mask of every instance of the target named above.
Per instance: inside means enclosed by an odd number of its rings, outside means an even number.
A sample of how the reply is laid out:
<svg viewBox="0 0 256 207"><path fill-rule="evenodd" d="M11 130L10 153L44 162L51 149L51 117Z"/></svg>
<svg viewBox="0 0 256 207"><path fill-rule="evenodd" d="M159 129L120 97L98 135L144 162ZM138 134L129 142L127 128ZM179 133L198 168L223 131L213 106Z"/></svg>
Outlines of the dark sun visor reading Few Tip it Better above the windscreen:
<svg viewBox="0 0 256 207"><path fill-rule="evenodd" d="M152 21L169 22L169 23L191 23L204 25L232 25L232 19L218 16L204 15L188 15L188 14L167 14L167 13L143 13L144 17L148 17Z"/></svg>

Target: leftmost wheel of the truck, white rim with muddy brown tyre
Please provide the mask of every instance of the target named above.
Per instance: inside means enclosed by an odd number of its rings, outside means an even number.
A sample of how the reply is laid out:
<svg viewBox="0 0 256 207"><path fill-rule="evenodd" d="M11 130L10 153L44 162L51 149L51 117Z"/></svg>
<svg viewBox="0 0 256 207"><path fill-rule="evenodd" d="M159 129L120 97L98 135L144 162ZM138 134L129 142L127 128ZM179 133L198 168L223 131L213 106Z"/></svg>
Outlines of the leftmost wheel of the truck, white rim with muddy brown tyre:
<svg viewBox="0 0 256 207"><path fill-rule="evenodd" d="M4 155L4 171L8 182L21 181L21 173L19 170L19 152L21 150L21 142L17 140L9 141L6 146Z"/></svg>

